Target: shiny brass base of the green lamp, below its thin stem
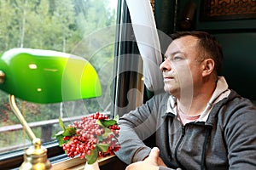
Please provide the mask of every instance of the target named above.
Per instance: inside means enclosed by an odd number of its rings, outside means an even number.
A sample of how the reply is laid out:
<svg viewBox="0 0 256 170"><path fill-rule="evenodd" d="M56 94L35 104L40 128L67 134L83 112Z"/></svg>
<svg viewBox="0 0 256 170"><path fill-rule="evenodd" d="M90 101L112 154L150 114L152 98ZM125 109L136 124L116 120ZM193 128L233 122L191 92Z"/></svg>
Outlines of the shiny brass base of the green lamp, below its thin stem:
<svg viewBox="0 0 256 170"><path fill-rule="evenodd" d="M41 140L36 138L32 141L32 146L26 150L24 162L20 170L47 170L51 164L47 160L47 150L41 146Z"/></svg>

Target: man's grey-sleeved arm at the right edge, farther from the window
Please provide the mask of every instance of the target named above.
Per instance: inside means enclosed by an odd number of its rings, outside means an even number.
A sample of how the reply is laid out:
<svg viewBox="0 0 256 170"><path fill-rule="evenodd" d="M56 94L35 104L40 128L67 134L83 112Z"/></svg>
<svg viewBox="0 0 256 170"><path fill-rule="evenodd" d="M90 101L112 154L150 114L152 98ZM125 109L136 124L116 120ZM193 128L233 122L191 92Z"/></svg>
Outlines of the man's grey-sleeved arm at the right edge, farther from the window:
<svg viewBox="0 0 256 170"><path fill-rule="evenodd" d="M224 138L229 152L230 169L256 168L256 109L247 99L233 100L227 107Z"/></svg>

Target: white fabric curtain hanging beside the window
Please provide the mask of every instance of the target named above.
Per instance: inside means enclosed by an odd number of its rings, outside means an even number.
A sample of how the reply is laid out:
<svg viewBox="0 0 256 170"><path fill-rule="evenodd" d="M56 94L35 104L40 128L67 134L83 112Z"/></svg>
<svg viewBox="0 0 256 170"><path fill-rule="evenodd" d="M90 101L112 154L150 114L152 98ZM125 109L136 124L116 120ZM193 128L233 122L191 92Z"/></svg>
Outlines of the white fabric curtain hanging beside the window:
<svg viewBox="0 0 256 170"><path fill-rule="evenodd" d="M164 87L160 63L162 62L160 40L154 14L149 0L126 0L131 15L131 24L139 52L143 58L145 86L151 92Z"/></svg>

